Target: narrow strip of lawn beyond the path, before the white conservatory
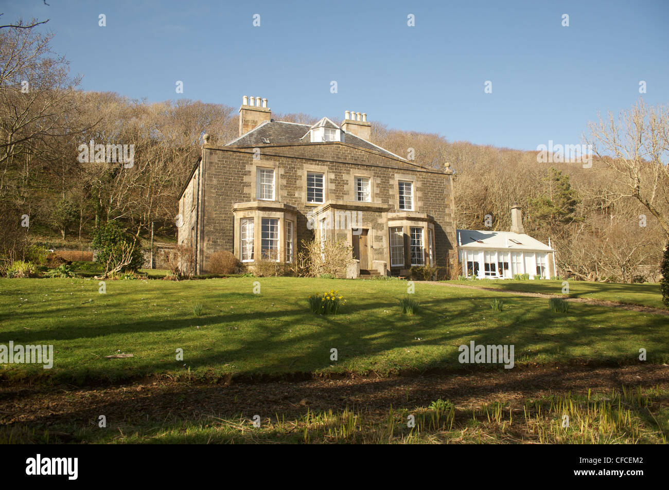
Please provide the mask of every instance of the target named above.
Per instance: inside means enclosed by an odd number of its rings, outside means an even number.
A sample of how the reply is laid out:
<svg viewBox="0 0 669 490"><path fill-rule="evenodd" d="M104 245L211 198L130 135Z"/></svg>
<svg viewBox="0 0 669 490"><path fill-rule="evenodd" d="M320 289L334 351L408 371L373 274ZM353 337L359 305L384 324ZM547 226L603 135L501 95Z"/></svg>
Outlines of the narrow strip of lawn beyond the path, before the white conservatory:
<svg viewBox="0 0 669 490"><path fill-rule="evenodd" d="M569 293L563 294L563 281L545 279L516 281L514 279L458 279L446 281L454 284L466 284L478 287L491 287L502 291L523 291L528 293L544 293L564 295L565 297L582 297L586 299L603 299L618 301L632 305L665 308L659 284L614 284L589 281L568 281Z"/></svg>

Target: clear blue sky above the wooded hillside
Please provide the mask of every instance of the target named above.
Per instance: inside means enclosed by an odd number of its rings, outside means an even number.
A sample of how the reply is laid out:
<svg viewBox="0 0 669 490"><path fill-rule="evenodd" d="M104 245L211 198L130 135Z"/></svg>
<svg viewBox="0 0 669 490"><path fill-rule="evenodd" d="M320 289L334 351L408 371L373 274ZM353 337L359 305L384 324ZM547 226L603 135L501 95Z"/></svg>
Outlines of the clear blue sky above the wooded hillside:
<svg viewBox="0 0 669 490"><path fill-rule="evenodd" d="M638 100L640 80L646 102L669 98L666 0L47 3L0 0L3 23L49 18L82 88L131 98L236 108L261 96L275 112L341 122L356 110L389 128L524 150L579 143L598 112Z"/></svg>

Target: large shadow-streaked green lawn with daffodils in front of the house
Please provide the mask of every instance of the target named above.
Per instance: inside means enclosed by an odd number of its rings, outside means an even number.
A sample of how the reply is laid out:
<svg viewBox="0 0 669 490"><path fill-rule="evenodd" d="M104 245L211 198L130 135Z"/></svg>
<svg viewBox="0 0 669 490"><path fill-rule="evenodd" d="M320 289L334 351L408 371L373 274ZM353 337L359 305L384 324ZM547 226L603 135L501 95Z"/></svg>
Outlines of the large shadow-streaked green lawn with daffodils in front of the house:
<svg viewBox="0 0 669 490"><path fill-rule="evenodd" d="M260 294L254 294L254 283ZM549 281L537 282L549 285ZM579 293L579 283L572 283ZM548 300L415 283L417 316L400 314L404 281L235 277L197 281L0 279L0 344L53 344L54 368L5 364L11 378L84 383L145 374L219 378L355 371L461 369L458 346L512 344L515 361L669 361L669 318L583 303L553 314ZM626 285L633 289L645 285ZM306 297L337 289L337 316L314 316ZM504 311L492 312L492 298ZM611 298L609 298L611 299ZM201 302L196 317L193 305ZM183 361L176 350L183 349ZM330 350L339 359L330 360ZM133 358L105 359L117 353Z"/></svg>

